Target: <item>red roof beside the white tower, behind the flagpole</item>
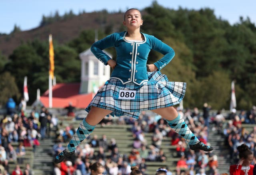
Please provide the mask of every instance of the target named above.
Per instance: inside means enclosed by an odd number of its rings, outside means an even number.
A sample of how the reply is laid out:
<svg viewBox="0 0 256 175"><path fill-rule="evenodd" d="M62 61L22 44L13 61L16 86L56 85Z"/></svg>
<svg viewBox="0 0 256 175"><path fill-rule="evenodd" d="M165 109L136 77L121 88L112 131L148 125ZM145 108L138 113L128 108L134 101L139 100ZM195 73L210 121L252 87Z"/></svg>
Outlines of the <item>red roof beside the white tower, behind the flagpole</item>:
<svg viewBox="0 0 256 175"><path fill-rule="evenodd" d="M65 108L70 102L76 108L86 108L94 93L79 94L80 83L58 83L52 87L52 108ZM42 104L49 108L49 90L40 96Z"/></svg>

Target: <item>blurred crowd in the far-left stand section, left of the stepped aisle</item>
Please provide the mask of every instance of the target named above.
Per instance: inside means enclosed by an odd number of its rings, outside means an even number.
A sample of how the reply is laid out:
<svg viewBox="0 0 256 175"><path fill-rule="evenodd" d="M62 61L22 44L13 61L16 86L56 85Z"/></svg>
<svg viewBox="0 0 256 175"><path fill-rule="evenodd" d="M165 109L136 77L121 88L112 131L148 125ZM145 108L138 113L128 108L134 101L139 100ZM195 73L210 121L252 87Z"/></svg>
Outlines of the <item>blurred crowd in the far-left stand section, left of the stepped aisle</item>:
<svg viewBox="0 0 256 175"><path fill-rule="evenodd" d="M8 100L6 113L0 118L0 172L3 175L32 175L29 152L35 152L40 140L46 137L51 120L52 114L44 107L27 113L24 99L18 105L12 98Z"/></svg>

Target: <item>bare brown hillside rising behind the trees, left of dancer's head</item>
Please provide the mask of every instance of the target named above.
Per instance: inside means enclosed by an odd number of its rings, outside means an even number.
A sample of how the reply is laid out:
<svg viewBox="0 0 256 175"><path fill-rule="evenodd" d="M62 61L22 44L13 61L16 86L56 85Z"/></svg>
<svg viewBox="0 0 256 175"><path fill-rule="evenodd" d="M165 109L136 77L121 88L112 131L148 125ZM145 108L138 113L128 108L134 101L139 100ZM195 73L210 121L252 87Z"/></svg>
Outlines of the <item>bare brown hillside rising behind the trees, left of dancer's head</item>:
<svg viewBox="0 0 256 175"><path fill-rule="evenodd" d="M52 34L54 40L62 44L78 37L79 33L86 29L104 29L111 25L113 26L112 29L116 31L122 25L122 18L122 13L84 13L68 20L54 22L28 31L16 32L10 35L0 35L0 51L3 55L8 57L22 42L30 41L35 38L48 41L49 34Z"/></svg>

